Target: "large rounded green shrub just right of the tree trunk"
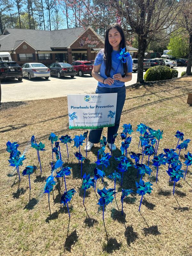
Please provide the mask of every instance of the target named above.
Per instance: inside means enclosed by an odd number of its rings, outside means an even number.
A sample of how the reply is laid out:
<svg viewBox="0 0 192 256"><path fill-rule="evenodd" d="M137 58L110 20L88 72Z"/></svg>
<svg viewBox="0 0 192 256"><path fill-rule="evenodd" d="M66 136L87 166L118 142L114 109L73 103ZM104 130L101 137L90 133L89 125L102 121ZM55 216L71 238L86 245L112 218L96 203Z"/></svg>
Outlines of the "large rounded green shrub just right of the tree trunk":
<svg viewBox="0 0 192 256"><path fill-rule="evenodd" d="M145 81L157 81L157 80L166 80L172 78L172 72L169 67L166 66L156 66L149 68L145 75Z"/></svg>

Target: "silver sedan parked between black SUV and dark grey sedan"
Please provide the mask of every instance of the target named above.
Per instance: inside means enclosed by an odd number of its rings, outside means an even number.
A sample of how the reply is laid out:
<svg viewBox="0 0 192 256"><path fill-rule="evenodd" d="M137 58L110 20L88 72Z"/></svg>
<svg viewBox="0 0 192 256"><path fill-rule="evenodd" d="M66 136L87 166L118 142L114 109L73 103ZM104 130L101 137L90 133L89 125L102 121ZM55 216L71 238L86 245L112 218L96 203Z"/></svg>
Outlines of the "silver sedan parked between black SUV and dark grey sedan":
<svg viewBox="0 0 192 256"><path fill-rule="evenodd" d="M29 80L34 77L44 77L48 79L50 76L50 69L42 63L25 63L22 66L23 76L27 76Z"/></svg>

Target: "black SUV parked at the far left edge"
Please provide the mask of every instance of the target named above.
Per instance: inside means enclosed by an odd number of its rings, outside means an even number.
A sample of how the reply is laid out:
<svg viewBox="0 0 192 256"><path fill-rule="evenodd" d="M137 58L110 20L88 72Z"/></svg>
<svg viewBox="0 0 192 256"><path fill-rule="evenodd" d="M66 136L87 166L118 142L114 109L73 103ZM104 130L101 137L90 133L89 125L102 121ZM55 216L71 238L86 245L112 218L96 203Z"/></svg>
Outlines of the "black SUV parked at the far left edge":
<svg viewBox="0 0 192 256"><path fill-rule="evenodd" d="M17 78L19 81L22 81L22 69L16 61L0 60L0 79L6 78Z"/></svg>

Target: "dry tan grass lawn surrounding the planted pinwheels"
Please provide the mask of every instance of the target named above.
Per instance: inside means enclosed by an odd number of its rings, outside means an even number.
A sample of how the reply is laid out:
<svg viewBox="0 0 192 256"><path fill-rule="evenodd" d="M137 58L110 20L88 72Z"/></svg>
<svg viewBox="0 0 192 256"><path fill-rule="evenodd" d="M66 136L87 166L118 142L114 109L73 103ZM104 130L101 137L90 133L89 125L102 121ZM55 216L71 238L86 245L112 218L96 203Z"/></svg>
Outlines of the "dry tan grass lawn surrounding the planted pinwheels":
<svg viewBox="0 0 192 256"><path fill-rule="evenodd" d="M122 113L121 124L131 123L133 126L132 143L129 150L139 152L139 134L136 125L144 123L154 129L163 129L163 140L159 143L158 153L163 148L174 148L177 130L184 132L185 139L192 139L192 108L187 102L188 93L192 90L191 77L183 77L166 83L149 84L127 89L126 101ZM67 208L60 205L60 196L64 190L64 182L57 180L53 195L51 194L52 216L49 216L48 196L45 195L45 179L51 174L52 159L49 134L54 132L61 136L68 134L72 138L83 130L68 130L67 98L28 101L17 108L9 108L0 112L0 254L10 255L191 255L191 196L192 169L186 180L180 180L172 195L172 184L164 167L159 170L159 182L153 183L151 195L144 196L141 212L138 212L140 196L130 196L124 203L124 215L121 216L121 187L117 184L116 200L105 210L105 223L102 211L98 211L99 195L93 189L86 192L83 206L82 181L80 166L73 153L76 149L69 146L68 165L72 174L66 179L67 187L75 188L77 194L69 204L71 219ZM104 129L106 135L107 128ZM119 129L119 132L122 128ZM27 159L24 166L38 163L36 151L30 147L30 138L35 134L38 142L45 143L44 152L40 152L42 177L39 177L39 166L36 174L31 175L31 195L29 195L28 178L18 176L8 166L9 154L5 151L6 142L18 141L20 151L25 152ZM118 149L115 156L120 155L120 137L117 137ZM97 159L99 145L95 145L88 159L83 164L83 172L93 174L94 162ZM192 142L189 143L192 151ZM81 149L82 152L83 148ZM61 145L62 158L67 160L67 152ZM181 151L181 161L184 161ZM145 159L147 162L147 159ZM115 170L117 163L105 169L106 174ZM24 168L20 168L22 171ZM144 180L154 181L152 177ZM136 171L132 168L124 175L123 188L135 189ZM113 188L114 183L104 178L105 186ZM98 181L97 187L103 188ZM29 201L30 196L30 201ZM98 197L98 198L97 198ZM105 225L104 225L105 224Z"/></svg>

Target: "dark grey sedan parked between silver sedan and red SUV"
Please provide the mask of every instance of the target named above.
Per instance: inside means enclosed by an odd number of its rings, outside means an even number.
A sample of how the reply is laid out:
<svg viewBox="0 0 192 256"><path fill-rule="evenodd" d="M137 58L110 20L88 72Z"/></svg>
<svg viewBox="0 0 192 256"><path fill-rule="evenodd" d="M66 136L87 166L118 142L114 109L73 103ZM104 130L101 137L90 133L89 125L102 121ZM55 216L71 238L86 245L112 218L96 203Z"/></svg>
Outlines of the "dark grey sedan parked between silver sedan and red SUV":
<svg viewBox="0 0 192 256"><path fill-rule="evenodd" d="M51 76L57 76L61 78L62 76L71 76L76 75L75 69L66 62L56 62L49 65Z"/></svg>

